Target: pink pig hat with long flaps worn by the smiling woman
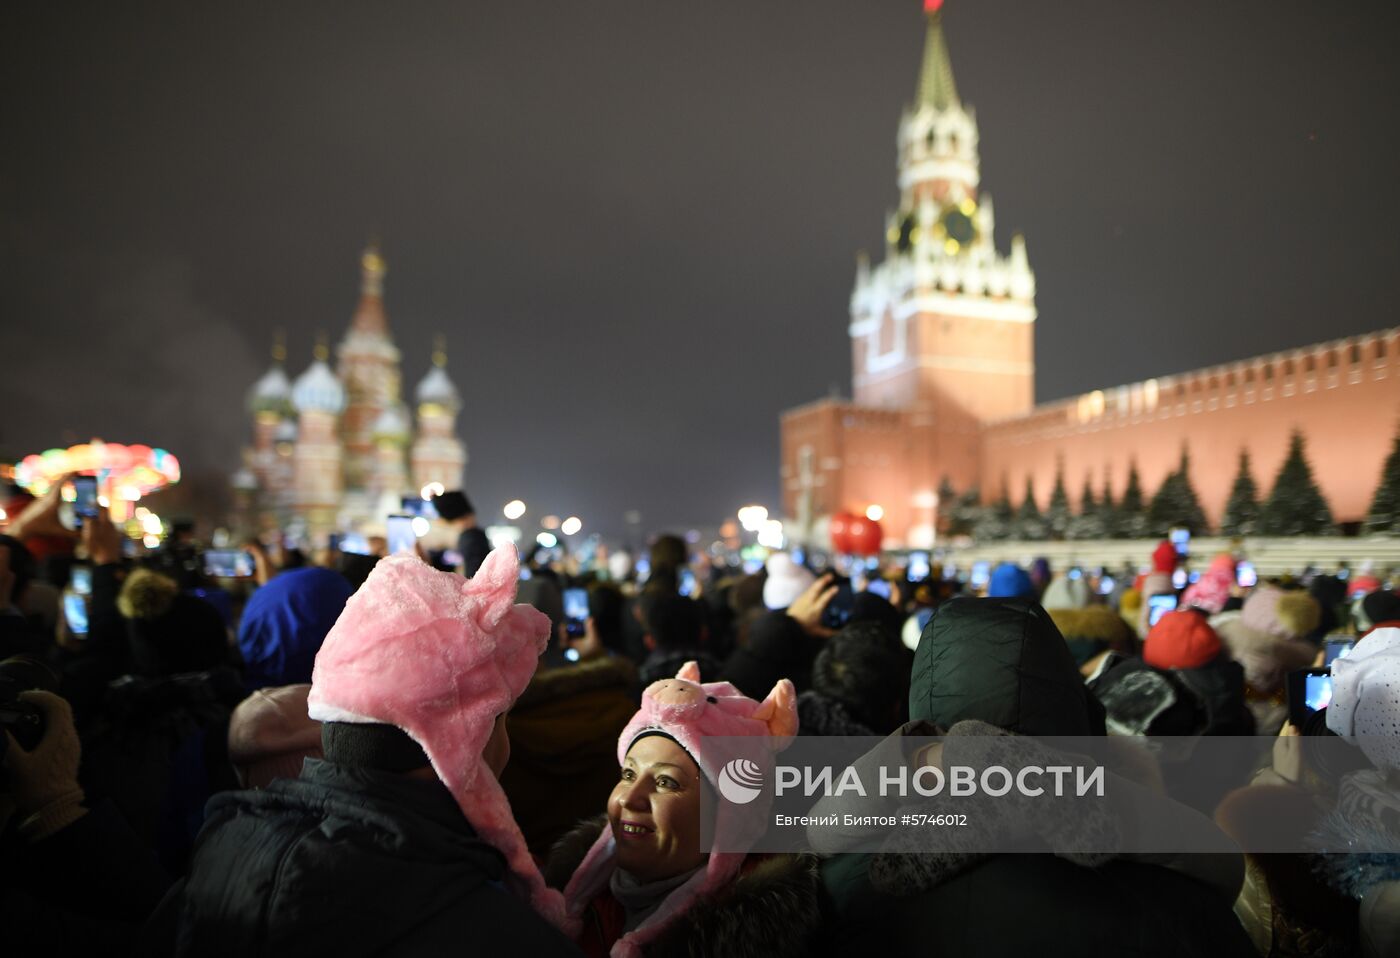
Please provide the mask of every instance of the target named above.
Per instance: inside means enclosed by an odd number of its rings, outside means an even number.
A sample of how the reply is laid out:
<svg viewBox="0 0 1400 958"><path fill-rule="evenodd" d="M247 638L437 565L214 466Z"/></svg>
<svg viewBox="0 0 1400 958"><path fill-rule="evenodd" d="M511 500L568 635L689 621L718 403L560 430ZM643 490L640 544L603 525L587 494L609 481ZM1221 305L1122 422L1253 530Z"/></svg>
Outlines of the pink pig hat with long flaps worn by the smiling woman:
<svg viewBox="0 0 1400 958"><path fill-rule="evenodd" d="M641 693L641 710L617 737L617 765L627 758L640 737L662 733L676 740L700 766L700 773L718 791L720 770L734 759L748 759L769 769L777 752L787 748L797 734L797 690L788 679L778 679L762 703L741 693L728 682L700 682L700 667L686 662L676 678L661 679ZM735 738L749 738L752 748L736 749ZM713 741L722 740L722 741ZM647 944L703 895L724 888L743 864L745 852L760 835L771 797L764 790L746 805L724 798L717 803L715 845L734 849L711 852L704 870L672 891L647 920L624 934L612 948L613 958L636 958ZM588 903L608 885L616 868L617 842L605 828L584 856L564 888L568 917L577 920Z"/></svg>

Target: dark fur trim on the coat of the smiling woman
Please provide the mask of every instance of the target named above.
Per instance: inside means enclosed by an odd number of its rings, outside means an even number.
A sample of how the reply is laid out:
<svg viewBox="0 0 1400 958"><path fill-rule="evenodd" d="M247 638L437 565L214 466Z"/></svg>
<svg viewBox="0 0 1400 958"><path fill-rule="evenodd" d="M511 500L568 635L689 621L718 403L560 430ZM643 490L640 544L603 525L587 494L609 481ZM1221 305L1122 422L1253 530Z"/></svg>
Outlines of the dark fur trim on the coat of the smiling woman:
<svg viewBox="0 0 1400 958"><path fill-rule="evenodd" d="M599 815L560 839L545 866L545 881L563 888L606 826L608 818ZM819 950L826 913L815 854L749 856L734 881L697 899L643 951L648 958L798 958Z"/></svg>

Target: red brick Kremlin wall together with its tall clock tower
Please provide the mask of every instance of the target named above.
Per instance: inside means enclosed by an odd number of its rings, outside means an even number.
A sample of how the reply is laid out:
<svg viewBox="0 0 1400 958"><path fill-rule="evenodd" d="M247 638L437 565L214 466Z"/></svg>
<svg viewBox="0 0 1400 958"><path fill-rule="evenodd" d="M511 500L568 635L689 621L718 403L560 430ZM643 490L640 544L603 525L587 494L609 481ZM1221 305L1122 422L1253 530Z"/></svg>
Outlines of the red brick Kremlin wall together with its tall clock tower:
<svg viewBox="0 0 1400 958"><path fill-rule="evenodd" d="M1025 238L993 242L973 111L953 81L941 4L928 4L918 91L899 126L900 206L885 259L862 256L850 303L853 399L781 416L783 511L820 539L823 517L883 510L888 548L928 548L939 485L1009 492L1040 508L1063 469L1121 496L1135 464L1151 497L1183 448L1218 522L1247 450L1267 494L1299 430L1338 522L1361 520L1400 423L1400 328L1033 405L1035 275ZM1088 384L1086 384L1088 385Z"/></svg>

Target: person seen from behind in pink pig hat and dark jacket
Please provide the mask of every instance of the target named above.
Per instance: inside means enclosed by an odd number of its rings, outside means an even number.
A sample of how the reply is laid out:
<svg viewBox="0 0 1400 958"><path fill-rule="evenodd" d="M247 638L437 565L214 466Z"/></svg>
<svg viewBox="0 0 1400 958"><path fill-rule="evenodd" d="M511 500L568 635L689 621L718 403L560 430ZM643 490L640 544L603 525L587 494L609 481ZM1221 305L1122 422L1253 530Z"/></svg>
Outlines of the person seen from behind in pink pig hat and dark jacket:
<svg viewBox="0 0 1400 958"><path fill-rule="evenodd" d="M316 654L325 761L209 803L154 951L577 954L497 783L549 637L517 577L508 546L468 581L414 556L374 567Z"/></svg>

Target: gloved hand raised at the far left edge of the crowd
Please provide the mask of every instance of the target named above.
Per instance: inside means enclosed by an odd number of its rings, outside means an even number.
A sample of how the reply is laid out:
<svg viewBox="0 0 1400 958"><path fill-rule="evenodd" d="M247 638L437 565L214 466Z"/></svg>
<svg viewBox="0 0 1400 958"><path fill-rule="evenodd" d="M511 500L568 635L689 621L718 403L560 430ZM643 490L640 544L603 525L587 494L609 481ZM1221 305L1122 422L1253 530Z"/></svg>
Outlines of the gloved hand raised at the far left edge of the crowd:
<svg viewBox="0 0 1400 958"><path fill-rule="evenodd" d="M83 751L73 727L73 709L52 692L21 692L27 702L43 713L43 738L32 752L20 748L10 733L6 769L10 797L21 817L20 833L31 842L53 835L83 817L83 789L78 787L78 761Z"/></svg>

